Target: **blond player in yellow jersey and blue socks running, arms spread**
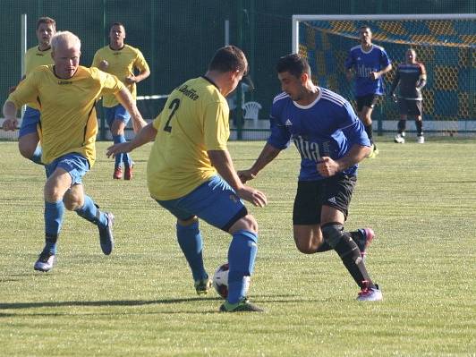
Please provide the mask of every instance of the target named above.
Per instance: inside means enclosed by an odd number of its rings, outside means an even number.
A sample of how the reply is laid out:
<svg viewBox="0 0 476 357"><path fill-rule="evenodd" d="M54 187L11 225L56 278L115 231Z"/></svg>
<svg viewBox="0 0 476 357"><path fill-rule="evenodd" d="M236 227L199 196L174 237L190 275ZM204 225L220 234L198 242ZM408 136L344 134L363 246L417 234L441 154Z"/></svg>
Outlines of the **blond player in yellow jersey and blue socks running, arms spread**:
<svg viewBox="0 0 476 357"><path fill-rule="evenodd" d="M4 117L13 120L16 110L38 98L41 111L42 162L45 184L46 245L34 268L48 271L55 263L56 242L64 208L98 225L104 254L114 247L114 216L102 212L85 195L82 177L96 158L98 133L95 104L104 94L114 94L132 114L136 131L146 123L129 90L114 75L80 66L81 41L71 32L58 32L51 40L54 65L30 72L4 103Z"/></svg>

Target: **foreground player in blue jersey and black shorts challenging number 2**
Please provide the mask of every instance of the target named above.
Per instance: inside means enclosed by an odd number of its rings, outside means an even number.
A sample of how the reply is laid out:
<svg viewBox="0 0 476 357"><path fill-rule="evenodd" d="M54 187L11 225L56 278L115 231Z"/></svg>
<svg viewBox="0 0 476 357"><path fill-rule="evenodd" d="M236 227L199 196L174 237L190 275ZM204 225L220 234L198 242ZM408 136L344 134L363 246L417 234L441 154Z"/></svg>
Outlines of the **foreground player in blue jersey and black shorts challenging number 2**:
<svg viewBox="0 0 476 357"><path fill-rule="evenodd" d="M361 287L357 299L382 300L363 261L373 231L344 231L357 164L369 155L370 140L347 100L312 83L305 58L281 57L276 70L284 92L273 101L271 135L253 166L238 174L243 183L253 179L293 140L302 159L293 207L297 249L335 250Z"/></svg>

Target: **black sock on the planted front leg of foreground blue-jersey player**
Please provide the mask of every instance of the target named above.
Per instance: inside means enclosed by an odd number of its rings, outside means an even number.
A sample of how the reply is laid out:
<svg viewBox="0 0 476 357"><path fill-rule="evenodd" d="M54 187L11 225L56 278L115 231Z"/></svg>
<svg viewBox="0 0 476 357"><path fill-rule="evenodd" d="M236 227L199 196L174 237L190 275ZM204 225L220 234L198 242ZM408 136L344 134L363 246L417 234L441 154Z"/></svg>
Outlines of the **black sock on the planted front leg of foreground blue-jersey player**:
<svg viewBox="0 0 476 357"><path fill-rule="evenodd" d="M361 251L357 244L353 242L351 234L343 232L340 242L336 245L336 252L357 285L361 288L375 286L370 280L369 273L367 273L361 258Z"/></svg>

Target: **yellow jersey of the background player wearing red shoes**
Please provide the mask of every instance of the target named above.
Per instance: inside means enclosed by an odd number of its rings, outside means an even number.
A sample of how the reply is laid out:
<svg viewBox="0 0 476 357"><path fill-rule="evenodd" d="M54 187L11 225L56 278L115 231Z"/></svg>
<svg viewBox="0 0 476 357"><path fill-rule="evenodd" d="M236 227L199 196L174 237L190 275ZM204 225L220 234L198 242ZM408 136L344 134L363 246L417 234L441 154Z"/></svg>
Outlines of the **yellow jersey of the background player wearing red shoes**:
<svg viewBox="0 0 476 357"><path fill-rule="evenodd" d="M140 72L149 71L149 64L147 64L144 55L139 49L124 45L119 50L114 50L109 46L99 48L92 60L93 67L99 67L101 61L106 60L109 66L106 69L107 73L114 74L120 81L125 81L125 77L134 74L134 69ZM132 98L137 97L137 86L135 83L127 84L127 89L132 94ZM119 104L115 96L104 96L103 106L112 107Z"/></svg>

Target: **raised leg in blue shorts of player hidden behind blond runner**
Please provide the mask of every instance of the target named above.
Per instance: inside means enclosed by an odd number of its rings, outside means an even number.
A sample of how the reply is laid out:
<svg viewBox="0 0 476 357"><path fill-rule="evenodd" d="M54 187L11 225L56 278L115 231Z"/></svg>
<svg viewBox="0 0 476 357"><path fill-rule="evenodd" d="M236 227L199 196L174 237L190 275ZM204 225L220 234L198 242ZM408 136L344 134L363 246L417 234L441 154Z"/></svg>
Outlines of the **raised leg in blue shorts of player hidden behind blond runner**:
<svg viewBox="0 0 476 357"><path fill-rule="evenodd" d="M30 106L26 107L23 118L21 119L20 132L18 133L18 149L22 157L26 157L35 164L41 163L41 147L38 145L38 123L40 113L37 109Z"/></svg>

